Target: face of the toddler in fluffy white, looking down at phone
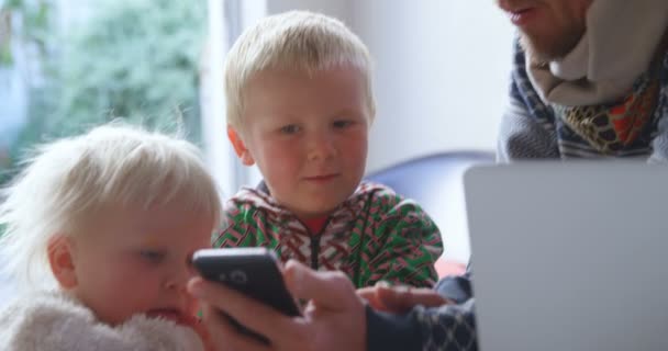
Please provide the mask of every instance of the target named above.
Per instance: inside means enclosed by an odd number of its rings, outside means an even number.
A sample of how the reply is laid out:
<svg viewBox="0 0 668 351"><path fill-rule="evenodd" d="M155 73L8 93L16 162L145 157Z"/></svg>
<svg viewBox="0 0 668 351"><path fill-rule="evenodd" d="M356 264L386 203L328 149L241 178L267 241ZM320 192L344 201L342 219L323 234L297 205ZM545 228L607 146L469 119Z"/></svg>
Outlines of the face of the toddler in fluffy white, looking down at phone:
<svg viewBox="0 0 668 351"><path fill-rule="evenodd" d="M140 313L186 324L197 312L190 257L210 247L212 224L182 206L109 211L70 238L69 291L111 325Z"/></svg>

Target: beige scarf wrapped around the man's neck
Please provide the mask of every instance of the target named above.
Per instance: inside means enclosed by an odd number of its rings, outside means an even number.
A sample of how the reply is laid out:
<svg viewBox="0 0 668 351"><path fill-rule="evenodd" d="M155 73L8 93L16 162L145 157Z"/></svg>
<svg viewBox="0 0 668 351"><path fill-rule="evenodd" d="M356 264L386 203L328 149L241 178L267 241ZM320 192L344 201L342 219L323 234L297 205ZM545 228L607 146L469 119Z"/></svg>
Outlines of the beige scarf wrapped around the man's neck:
<svg viewBox="0 0 668 351"><path fill-rule="evenodd" d="M668 0L594 0L587 32L564 59L526 60L533 86L546 103L581 106L630 93L647 70L668 27Z"/></svg>

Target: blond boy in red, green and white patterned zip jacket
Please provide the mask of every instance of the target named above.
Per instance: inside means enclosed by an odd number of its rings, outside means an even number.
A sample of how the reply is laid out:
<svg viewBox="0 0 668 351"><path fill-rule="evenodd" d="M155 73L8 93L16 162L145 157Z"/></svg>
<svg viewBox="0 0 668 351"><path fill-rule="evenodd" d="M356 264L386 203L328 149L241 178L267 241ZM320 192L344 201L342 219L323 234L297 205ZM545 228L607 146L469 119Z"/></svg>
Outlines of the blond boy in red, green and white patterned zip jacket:
<svg viewBox="0 0 668 351"><path fill-rule="evenodd" d="M433 285L435 224L389 188L360 183L370 70L361 41L322 14L287 12L242 34L225 67L227 135L264 182L225 204L214 247L269 247L282 261L341 270L357 287Z"/></svg>

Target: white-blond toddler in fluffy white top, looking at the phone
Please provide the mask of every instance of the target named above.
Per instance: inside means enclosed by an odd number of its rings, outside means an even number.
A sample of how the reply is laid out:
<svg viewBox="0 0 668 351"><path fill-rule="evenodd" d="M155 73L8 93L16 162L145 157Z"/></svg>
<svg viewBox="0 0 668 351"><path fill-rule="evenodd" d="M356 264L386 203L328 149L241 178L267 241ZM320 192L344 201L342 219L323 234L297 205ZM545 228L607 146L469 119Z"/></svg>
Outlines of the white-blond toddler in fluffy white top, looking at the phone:
<svg viewBox="0 0 668 351"><path fill-rule="evenodd" d="M0 205L2 350L204 350L186 293L221 204L191 144L124 126L43 147Z"/></svg>

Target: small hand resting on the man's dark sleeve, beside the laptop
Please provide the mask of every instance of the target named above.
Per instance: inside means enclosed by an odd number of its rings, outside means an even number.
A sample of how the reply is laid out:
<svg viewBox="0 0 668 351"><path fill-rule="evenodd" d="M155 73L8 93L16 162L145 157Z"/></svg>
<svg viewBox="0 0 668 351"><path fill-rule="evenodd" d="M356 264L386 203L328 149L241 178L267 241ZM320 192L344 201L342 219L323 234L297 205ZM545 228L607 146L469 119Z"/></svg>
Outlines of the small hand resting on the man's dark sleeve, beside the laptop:
<svg viewBox="0 0 668 351"><path fill-rule="evenodd" d="M379 282L375 286L357 290L357 294L366 299L374 309L388 313L405 313L414 306L437 307L453 304L435 291L425 287L389 286Z"/></svg>

